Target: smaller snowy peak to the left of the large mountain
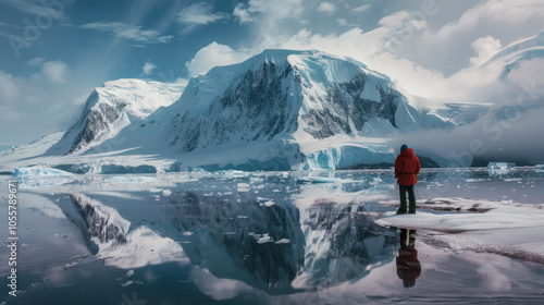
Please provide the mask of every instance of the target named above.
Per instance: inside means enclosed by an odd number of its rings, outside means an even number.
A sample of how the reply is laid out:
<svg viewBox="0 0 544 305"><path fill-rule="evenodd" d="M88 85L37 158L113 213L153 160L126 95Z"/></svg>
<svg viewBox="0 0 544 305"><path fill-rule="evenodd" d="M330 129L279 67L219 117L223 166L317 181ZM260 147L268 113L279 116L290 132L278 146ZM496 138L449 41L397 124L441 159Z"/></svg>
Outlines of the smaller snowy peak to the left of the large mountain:
<svg viewBox="0 0 544 305"><path fill-rule="evenodd" d="M83 152L180 98L183 86L141 80L107 82L87 98L81 118L48 154Z"/></svg>

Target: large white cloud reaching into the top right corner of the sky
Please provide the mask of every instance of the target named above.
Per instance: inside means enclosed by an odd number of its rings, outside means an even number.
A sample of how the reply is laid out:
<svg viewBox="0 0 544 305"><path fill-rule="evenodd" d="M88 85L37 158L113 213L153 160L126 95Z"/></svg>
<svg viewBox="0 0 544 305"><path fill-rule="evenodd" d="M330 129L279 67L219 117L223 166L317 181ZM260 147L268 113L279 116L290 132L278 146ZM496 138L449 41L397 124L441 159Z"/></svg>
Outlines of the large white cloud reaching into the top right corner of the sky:
<svg viewBox="0 0 544 305"><path fill-rule="evenodd" d="M446 14L436 4L438 15ZM465 11L458 19L429 30L406 49L413 60L429 69L455 73L474 56L471 42L491 36L506 46L544 28L544 4L540 0L489 0ZM450 69L448 68L450 66Z"/></svg>

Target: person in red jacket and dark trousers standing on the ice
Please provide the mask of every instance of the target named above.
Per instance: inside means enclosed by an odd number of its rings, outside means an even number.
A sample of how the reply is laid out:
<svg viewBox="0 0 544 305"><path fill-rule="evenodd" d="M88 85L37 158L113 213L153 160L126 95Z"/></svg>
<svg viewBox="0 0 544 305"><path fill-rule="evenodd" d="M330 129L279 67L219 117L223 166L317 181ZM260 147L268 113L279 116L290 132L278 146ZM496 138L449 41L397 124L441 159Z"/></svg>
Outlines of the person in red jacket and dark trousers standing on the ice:
<svg viewBox="0 0 544 305"><path fill-rule="evenodd" d="M397 179L398 190L400 191L400 208L397 213L406 213L406 193L408 193L409 209L408 213L416 213L416 195L413 185L418 183L417 175L421 166L418 157L413 155L413 149L403 144L400 155L395 160L395 178Z"/></svg>

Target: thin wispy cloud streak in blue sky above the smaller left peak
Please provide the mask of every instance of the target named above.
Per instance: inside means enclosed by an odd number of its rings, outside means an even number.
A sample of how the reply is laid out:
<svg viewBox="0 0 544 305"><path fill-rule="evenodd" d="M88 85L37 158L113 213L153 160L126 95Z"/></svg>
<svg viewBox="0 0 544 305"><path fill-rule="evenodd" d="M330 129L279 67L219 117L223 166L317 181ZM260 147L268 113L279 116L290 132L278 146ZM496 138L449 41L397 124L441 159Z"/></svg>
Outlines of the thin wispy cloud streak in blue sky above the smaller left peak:
<svg viewBox="0 0 544 305"><path fill-rule="evenodd" d="M137 44L168 44L174 38L172 35L161 35L153 29L143 29L141 26L121 22L95 22L84 24L81 27L112 33L116 38L133 40Z"/></svg>

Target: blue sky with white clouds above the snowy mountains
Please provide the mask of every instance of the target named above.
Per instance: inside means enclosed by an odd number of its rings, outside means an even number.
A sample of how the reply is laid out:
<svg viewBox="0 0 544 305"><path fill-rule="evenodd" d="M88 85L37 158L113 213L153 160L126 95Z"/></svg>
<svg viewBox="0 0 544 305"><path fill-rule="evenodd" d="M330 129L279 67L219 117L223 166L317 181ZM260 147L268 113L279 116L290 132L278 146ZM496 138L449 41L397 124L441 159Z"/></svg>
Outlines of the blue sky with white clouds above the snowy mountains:
<svg viewBox="0 0 544 305"><path fill-rule="evenodd" d="M355 58L416 106L490 102L479 68L542 29L541 0L0 0L0 147L66 130L107 81L185 84L274 48Z"/></svg>

